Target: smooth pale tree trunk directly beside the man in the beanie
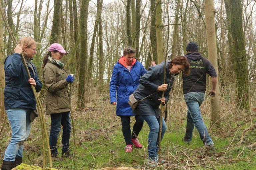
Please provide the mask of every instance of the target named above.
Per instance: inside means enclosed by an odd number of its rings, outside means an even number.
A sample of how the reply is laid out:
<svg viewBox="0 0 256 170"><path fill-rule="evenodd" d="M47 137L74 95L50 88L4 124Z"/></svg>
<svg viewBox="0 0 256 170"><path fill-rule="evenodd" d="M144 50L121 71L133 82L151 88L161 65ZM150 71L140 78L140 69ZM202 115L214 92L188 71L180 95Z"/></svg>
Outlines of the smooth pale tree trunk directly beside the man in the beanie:
<svg viewBox="0 0 256 170"><path fill-rule="evenodd" d="M212 63L218 75L218 56L217 56L217 44L216 44L216 32L214 21L214 1L204 1L205 6L205 24L206 24L206 37L208 47L209 61ZM220 96L219 96L219 82L217 77L216 96L211 98L211 124L220 124Z"/></svg>

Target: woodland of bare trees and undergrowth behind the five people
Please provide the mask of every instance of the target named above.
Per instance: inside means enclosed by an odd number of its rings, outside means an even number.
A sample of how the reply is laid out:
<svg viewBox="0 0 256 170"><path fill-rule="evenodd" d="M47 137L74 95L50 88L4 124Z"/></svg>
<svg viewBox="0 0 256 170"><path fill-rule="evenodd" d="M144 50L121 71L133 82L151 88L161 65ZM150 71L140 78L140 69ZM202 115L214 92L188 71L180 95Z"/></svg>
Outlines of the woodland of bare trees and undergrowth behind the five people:
<svg viewBox="0 0 256 170"><path fill-rule="evenodd" d="M78 161L55 160L55 168L144 169L149 128L145 123L139 135L143 149L124 153L121 121L109 103L113 66L128 45L136 48L136 58L148 68L151 60L160 63L167 55L185 55L186 44L194 41L218 70L217 96L206 96L201 106L216 149L205 151L196 129L191 145L181 141L186 105L178 75L167 105L168 129L161 155L166 163L158 169L255 169L255 0L1 0L1 4L16 39L30 36L41 43L33 59L41 80L42 57L49 45L64 46L65 40L69 51L63 61L67 72L75 74L71 99ZM13 48L0 17L1 160L11 135L3 105L3 61ZM45 91L43 87L39 93L43 104ZM49 131L50 117L45 120ZM42 165L40 126L37 119L25 141L23 160L27 164ZM72 150L72 135L70 142Z"/></svg>

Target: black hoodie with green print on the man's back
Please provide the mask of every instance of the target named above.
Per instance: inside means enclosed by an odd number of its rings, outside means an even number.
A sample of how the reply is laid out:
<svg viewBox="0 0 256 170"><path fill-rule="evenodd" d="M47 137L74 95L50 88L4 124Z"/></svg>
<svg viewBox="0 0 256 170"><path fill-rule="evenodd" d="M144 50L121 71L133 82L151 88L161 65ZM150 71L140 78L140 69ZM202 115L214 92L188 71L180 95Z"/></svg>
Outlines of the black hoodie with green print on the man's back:
<svg viewBox="0 0 256 170"><path fill-rule="evenodd" d="M217 77L216 71L210 61L199 52L189 52L185 55L190 63L190 74L183 79L183 94L189 92L203 92L206 90L206 73L211 77Z"/></svg>

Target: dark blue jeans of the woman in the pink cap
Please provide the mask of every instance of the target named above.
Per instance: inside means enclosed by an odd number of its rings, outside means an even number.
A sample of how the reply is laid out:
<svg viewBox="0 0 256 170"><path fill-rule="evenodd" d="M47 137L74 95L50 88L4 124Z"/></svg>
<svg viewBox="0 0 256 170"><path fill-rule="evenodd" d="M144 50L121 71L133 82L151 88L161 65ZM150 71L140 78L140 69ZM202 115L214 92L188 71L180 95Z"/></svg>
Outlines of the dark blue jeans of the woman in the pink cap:
<svg viewBox="0 0 256 170"><path fill-rule="evenodd" d="M62 152L66 152L69 149L69 138L71 132L71 123L69 118L70 112L54 113L51 114L51 131L50 131L50 148L51 153L58 153L57 140L58 134L62 126Z"/></svg>

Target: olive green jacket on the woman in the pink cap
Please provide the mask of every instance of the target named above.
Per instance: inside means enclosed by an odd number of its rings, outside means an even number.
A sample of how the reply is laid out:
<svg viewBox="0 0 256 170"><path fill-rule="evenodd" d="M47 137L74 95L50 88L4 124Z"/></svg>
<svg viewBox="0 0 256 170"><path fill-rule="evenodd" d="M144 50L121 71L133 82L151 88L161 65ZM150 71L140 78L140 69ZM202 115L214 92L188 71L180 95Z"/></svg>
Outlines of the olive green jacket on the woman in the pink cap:
<svg viewBox="0 0 256 170"><path fill-rule="evenodd" d="M67 76L68 73L64 68L48 60L43 69L44 82L47 87L46 115L70 111Z"/></svg>

